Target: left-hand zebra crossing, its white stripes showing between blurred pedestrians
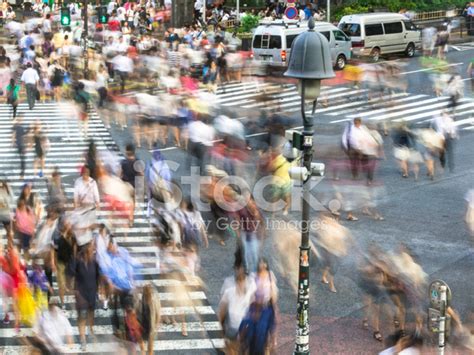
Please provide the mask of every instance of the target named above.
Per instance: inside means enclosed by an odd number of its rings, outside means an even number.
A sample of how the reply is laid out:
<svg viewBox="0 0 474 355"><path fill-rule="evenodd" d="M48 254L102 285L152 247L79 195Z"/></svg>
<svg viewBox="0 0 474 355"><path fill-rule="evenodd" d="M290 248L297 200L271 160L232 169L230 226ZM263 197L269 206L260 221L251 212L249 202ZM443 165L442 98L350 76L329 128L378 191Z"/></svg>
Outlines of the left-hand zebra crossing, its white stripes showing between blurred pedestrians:
<svg viewBox="0 0 474 355"><path fill-rule="evenodd" d="M71 103L37 103L34 110L30 111L26 104L20 104L18 113L22 115L23 125L33 125L37 120L42 124L43 130L50 140L50 149L46 155L45 176L49 176L53 168L58 168L63 176L65 193L72 201L74 180L79 175L79 169L84 163L84 153L88 140L81 134L75 116L74 106ZM93 139L98 151L113 151L120 155L119 149L105 128L98 114L92 111L89 115L89 138ZM16 149L11 144L12 115L7 105L0 105L0 171L8 178L14 196L18 197L25 181L33 182L33 191L40 195L42 201L46 200L46 179L33 176L34 152L28 150L26 155L26 170L24 180L20 179L20 159ZM105 207L105 206L102 206ZM106 220L110 211L101 208L98 218ZM210 306L199 280L177 279L176 275L163 273L159 268L158 248L146 217L145 205L137 203L135 221L131 228L116 228L114 230L119 245L128 249L131 256L142 263L143 268L138 271L137 283L139 285L152 283L159 292L161 299L161 314L177 316L180 319L185 315L188 336L181 334L181 324L162 324L155 339L155 352L176 354L212 354L216 349L223 348L220 323ZM6 243L5 232L0 231L0 241ZM179 257L179 254L176 255ZM53 288L56 288L54 282ZM186 301L176 306L173 289L186 290ZM80 353L80 341L77 329L77 312L74 306L74 296L66 297L66 310L74 329L74 345L65 350L66 353ZM0 307L0 312L2 312ZM1 315L3 318L3 314ZM117 343L113 337L111 322L112 311L97 309L95 311L95 341L88 336L87 353L105 354L116 353ZM10 313L13 319L13 314ZM0 353L2 354L27 354L28 347L22 342L23 336L32 334L32 330L22 327L20 332L14 329L13 322L5 325L0 323Z"/></svg>

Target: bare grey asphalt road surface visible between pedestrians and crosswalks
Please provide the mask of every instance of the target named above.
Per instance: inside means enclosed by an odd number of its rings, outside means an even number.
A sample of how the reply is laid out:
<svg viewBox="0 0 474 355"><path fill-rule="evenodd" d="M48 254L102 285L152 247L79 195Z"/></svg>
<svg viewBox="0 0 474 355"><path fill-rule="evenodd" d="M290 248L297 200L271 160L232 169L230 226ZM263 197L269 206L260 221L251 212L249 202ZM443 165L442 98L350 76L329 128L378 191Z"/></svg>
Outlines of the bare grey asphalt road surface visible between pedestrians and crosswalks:
<svg viewBox="0 0 474 355"><path fill-rule="evenodd" d="M448 61L462 74L463 78L468 79L466 69L473 56L474 48L469 49L467 46L464 50L450 51ZM405 62L404 59L401 61ZM405 75L409 82L408 92L410 95L433 96L428 72L420 66L419 57L407 60L403 71L408 72ZM466 80L465 83L469 84L469 80ZM465 94L466 97L471 95L470 85L466 85ZM241 113L232 107L229 110L231 114L234 114L234 117L238 117L238 114ZM293 114L293 119L295 125L301 125L297 113ZM329 120L334 120L334 116L317 115L316 158L318 158L318 152L338 144L343 123L330 125ZM115 129L112 131L119 146L123 147L130 140L127 132ZM385 217L385 221L374 221L359 214L361 218L357 222L342 222L350 229L357 247L361 250L366 250L368 245L374 243L387 251L396 250L401 243L406 244L416 256L423 270L429 275L430 281L440 278L449 284L453 292L453 306L464 320L467 320L469 312L474 311L473 240L470 239L463 223L464 196L469 189L474 188L473 132L473 130L461 131L461 137L456 145L456 170L454 173L441 173L438 163L438 174L434 181L428 180L424 176L426 170L422 168L421 178L418 182L413 179L401 179L391 152L390 138L386 137L386 159L380 162L376 173L376 180L383 187L383 194L378 199L378 209ZM188 172L185 152L170 148L163 151L163 154L168 160L179 163L177 176ZM148 153L141 151L140 155L146 158ZM254 157L248 164L248 171L255 169L253 165L255 159ZM321 184L321 190L324 191L328 184L331 184L329 177ZM317 191L318 188L315 190ZM317 194L318 192L316 192ZM316 216L317 211L313 211L311 217L316 218ZM300 215L294 213L290 214L288 218L298 220ZM270 260L271 267L274 269L278 266L275 265L278 262L276 261L278 257L285 257L285 255L279 256L275 252L275 244L279 243L279 238L285 238L285 236L271 234L262 248L263 255ZM202 251L201 275L208 288L206 294L214 308L217 308L219 291L224 278L232 275L234 250L235 241L230 241L227 246L222 247L212 240L209 249ZM333 322L336 324L339 322L339 327L333 329L341 334L332 334L332 336L338 337L340 335L344 338L352 334L350 329L354 324L359 324L357 319L362 317L363 306L361 290L357 286L357 274L354 271L357 258L356 250L357 248L354 248L350 255L343 259L338 270L336 275L337 294L330 293L328 288L321 284L320 270L312 262L310 307L311 314L315 317L312 318L312 327L315 332L321 329L323 323ZM279 306L282 318L287 321L282 327L280 344L291 344L294 334L292 322L296 310L296 295L289 286L290 282L287 278L279 272L276 272L276 276L280 290ZM428 292L426 297L428 300ZM344 322L341 325L340 321L347 322L347 327L344 326ZM347 346L350 347L352 341L354 344L360 342L360 338L363 339L364 336L366 335L360 332L350 335L350 338L345 339L342 347L339 345L342 349L340 353L344 353L343 350ZM357 337L359 339L356 339ZM367 337L369 339L369 336ZM327 337L324 339L327 340ZM327 348L331 349L330 346ZM287 348L282 345L282 349ZM378 343L371 343L361 353L373 353L373 351L380 349L381 346Z"/></svg>

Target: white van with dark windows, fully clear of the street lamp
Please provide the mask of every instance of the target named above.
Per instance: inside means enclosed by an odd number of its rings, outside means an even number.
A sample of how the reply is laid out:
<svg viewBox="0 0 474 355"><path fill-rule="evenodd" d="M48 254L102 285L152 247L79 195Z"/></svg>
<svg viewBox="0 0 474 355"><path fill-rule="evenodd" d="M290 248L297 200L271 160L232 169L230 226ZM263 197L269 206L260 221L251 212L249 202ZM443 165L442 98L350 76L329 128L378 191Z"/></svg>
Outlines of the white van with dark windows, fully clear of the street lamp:
<svg viewBox="0 0 474 355"><path fill-rule="evenodd" d="M343 16L338 27L351 38L354 55L371 56L374 61L388 53L413 57L421 45L421 31L401 14Z"/></svg>

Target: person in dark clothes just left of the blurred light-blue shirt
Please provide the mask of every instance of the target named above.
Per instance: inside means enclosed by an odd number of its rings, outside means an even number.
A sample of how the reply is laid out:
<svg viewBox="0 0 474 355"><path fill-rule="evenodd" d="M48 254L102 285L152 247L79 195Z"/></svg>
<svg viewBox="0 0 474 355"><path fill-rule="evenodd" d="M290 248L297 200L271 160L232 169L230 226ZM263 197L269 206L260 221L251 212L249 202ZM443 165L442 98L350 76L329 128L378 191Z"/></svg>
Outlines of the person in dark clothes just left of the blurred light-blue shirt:
<svg viewBox="0 0 474 355"><path fill-rule="evenodd" d="M94 336L94 311L99 283L99 265L94 258L93 243L83 246L74 260L70 276L73 276L75 280L77 325L81 351L86 351L86 322L89 326L89 335Z"/></svg>

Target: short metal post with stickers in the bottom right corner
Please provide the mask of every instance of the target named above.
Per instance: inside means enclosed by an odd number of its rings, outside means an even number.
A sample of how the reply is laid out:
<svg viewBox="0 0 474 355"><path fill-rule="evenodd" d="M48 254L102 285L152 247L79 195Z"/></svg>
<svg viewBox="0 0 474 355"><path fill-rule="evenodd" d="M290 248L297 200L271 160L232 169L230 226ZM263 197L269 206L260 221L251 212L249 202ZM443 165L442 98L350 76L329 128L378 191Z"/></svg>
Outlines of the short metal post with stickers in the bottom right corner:
<svg viewBox="0 0 474 355"><path fill-rule="evenodd" d="M443 355L451 325L447 312L451 304L451 289L443 280L435 280L430 284L429 292L428 329L438 335L438 354Z"/></svg>

